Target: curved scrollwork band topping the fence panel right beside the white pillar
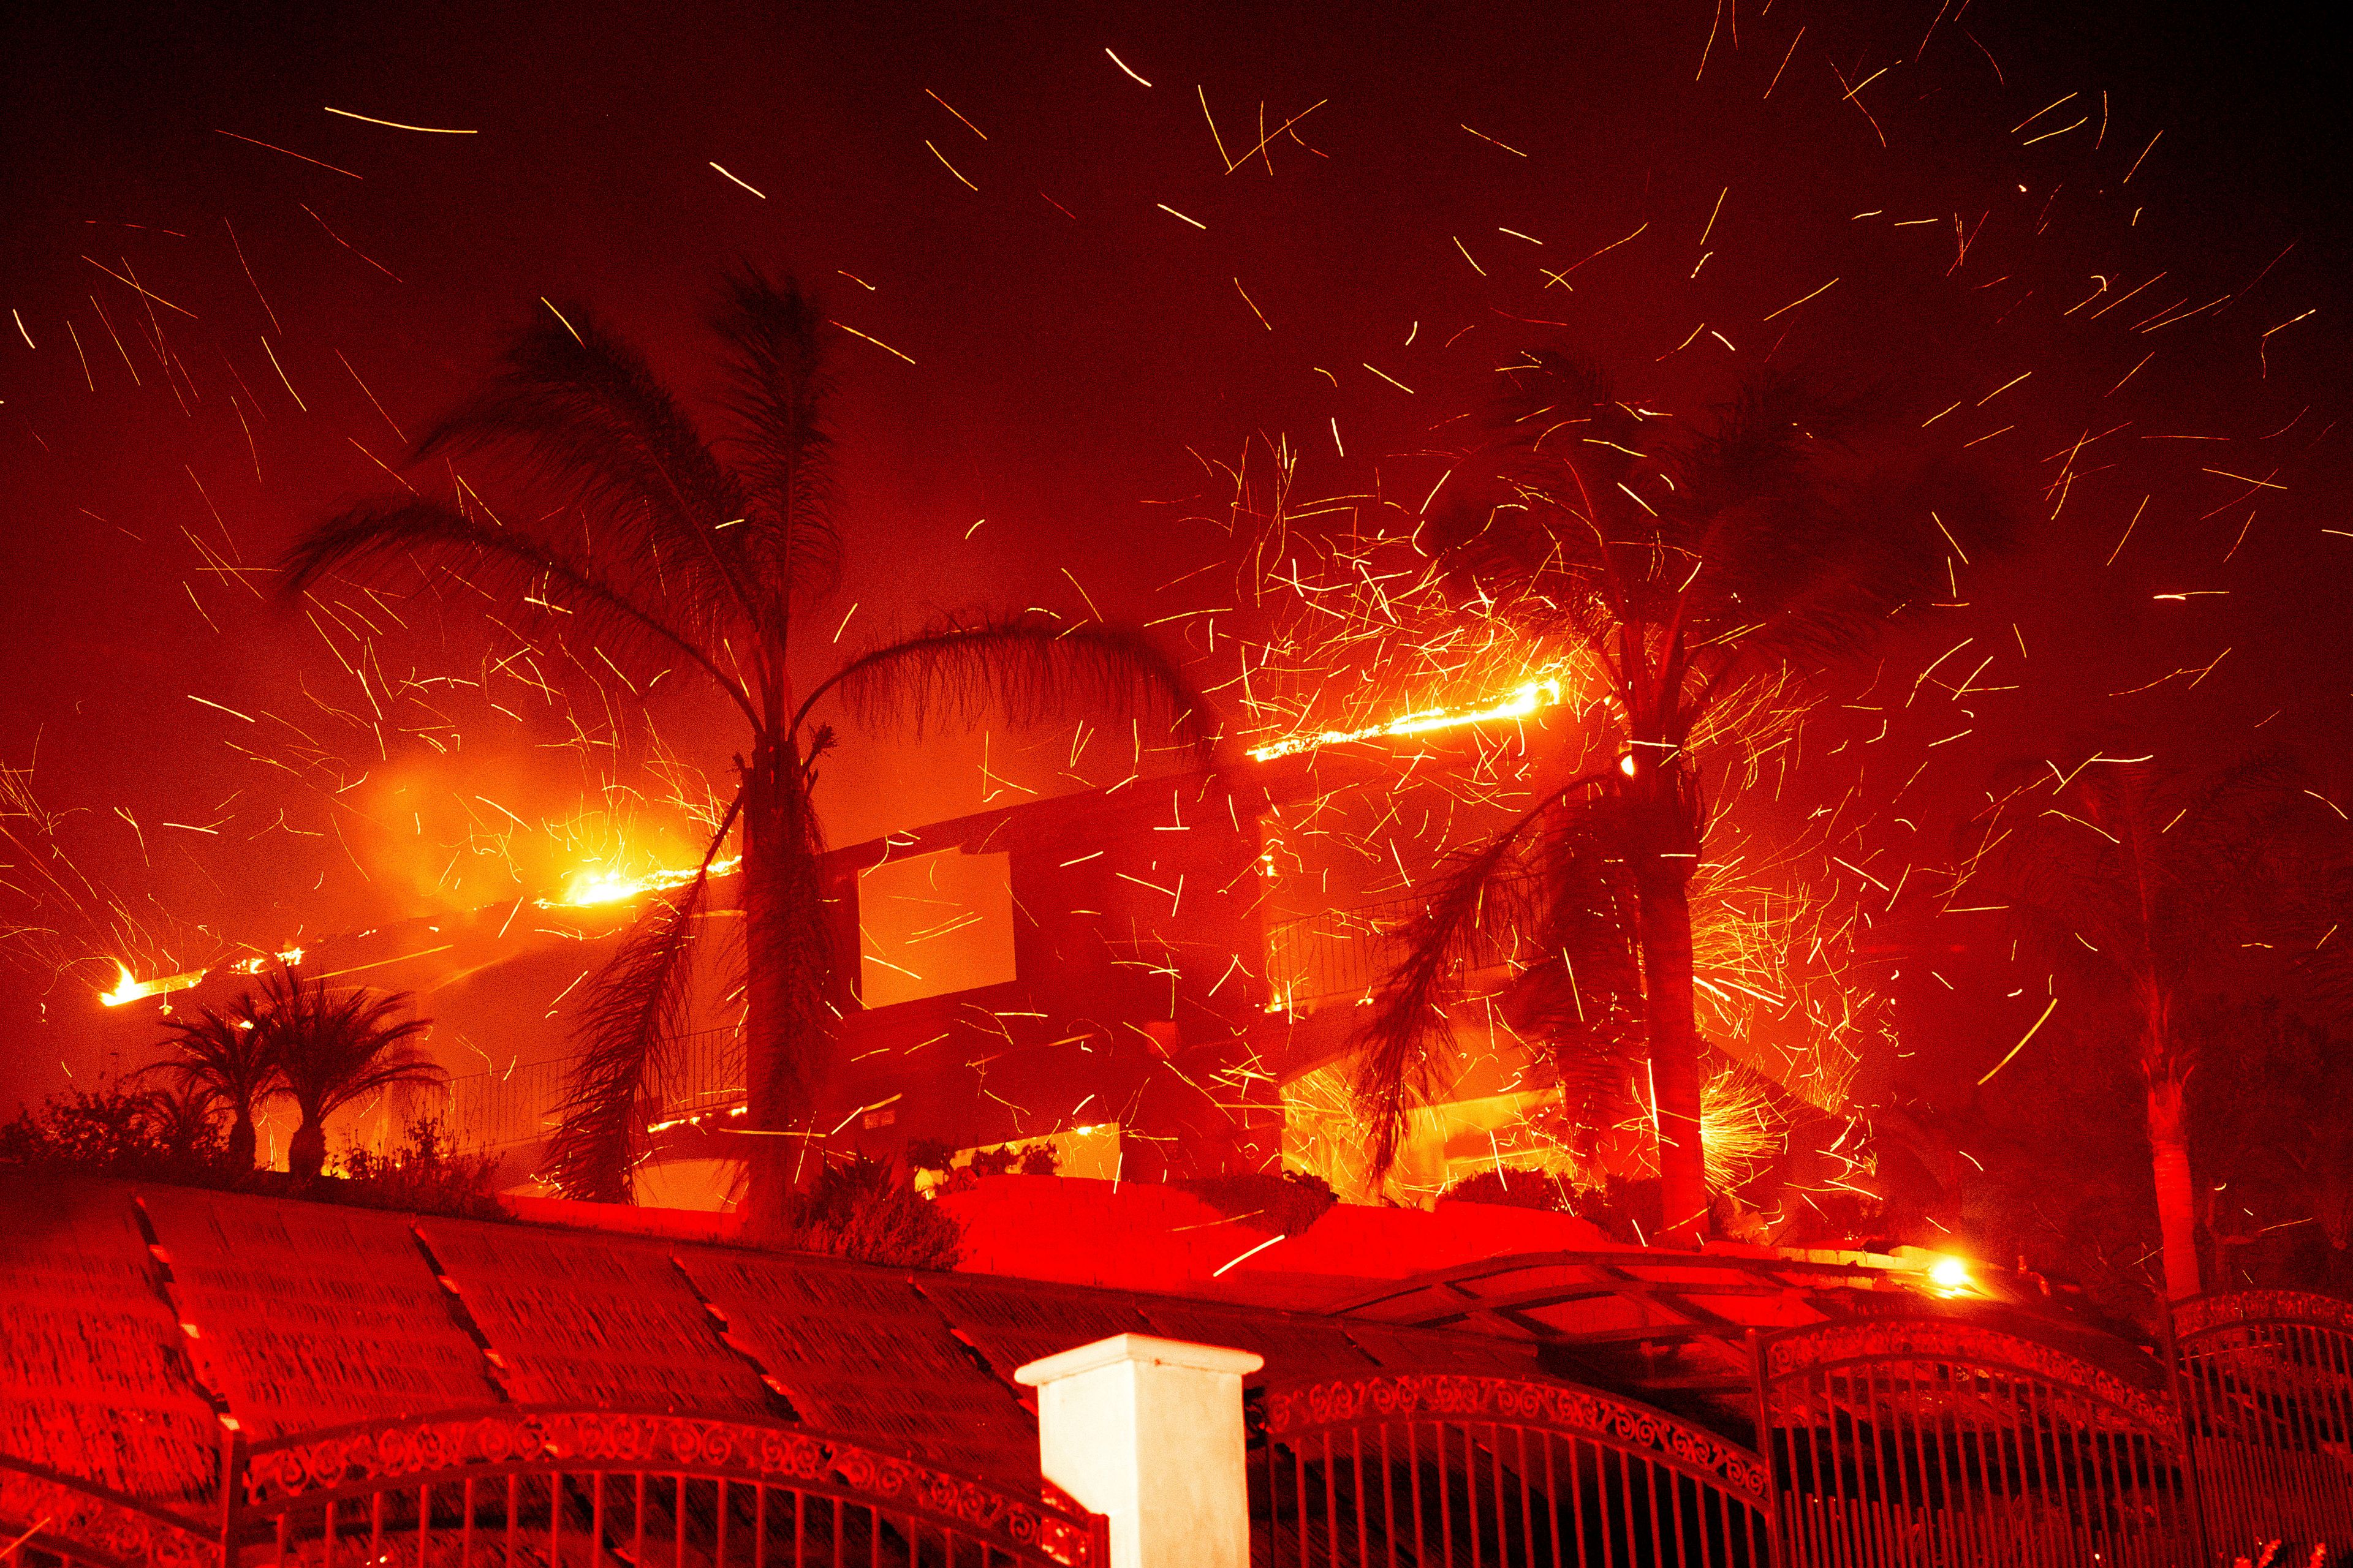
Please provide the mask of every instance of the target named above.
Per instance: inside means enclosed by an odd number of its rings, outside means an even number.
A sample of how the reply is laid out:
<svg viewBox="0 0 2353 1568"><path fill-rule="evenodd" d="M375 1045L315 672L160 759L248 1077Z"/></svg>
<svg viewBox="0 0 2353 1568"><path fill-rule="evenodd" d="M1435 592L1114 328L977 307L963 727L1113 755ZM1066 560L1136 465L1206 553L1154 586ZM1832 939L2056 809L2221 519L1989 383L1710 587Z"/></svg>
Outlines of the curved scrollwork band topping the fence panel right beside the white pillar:
<svg viewBox="0 0 2353 1568"><path fill-rule="evenodd" d="M1624 1399L1567 1382L1525 1382L1466 1373L1384 1373L1266 1392L1266 1434L1388 1420L1452 1420L1534 1427L1666 1460L1706 1476L1751 1507L1765 1507L1765 1465L1737 1443Z"/></svg>

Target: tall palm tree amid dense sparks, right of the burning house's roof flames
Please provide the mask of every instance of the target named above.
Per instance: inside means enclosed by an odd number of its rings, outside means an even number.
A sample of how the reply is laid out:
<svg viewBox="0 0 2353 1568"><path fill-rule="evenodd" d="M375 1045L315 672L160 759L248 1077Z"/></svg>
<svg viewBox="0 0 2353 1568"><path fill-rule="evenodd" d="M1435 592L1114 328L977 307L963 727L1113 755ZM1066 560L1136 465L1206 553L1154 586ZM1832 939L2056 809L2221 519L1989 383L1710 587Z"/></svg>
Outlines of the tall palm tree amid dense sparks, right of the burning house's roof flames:
<svg viewBox="0 0 2353 1568"><path fill-rule="evenodd" d="M1647 1056L1638 1095L1666 1225L1694 1237L1708 1215L1692 999L1708 795L1694 750L1791 677L1866 646L1937 581L1948 536L1991 545L2000 520L1946 465L1849 461L1859 409L1793 376L1689 423L1619 402L1569 353L1529 353L1506 383L1489 442L1457 470L1482 477L1424 543L1457 602L1492 607L1591 684L1609 762L1428 884L1360 1034L1360 1103L1386 1171L1442 1070L1475 952L1501 940L1560 957L1525 976L1522 1006L1572 1095ZM1562 748L1574 766L1579 738Z"/></svg>

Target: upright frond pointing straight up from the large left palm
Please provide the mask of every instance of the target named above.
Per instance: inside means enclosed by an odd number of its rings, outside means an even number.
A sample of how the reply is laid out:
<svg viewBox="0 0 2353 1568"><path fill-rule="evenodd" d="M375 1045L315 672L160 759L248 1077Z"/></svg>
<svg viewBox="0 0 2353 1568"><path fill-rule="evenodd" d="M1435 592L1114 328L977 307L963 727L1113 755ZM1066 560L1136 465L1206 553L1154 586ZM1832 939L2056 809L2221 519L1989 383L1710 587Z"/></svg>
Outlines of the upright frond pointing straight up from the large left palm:
<svg viewBox="0 0 2353 1568"><path fill-rule="evenodd" d="M842 574L842 536L833 524L833 433L816 299L786 280L755 270L727 280L727 301L713 329L727 343L727 409L736 416L732 447L744 456L744 552L791 609L821 599Z"/></svg>

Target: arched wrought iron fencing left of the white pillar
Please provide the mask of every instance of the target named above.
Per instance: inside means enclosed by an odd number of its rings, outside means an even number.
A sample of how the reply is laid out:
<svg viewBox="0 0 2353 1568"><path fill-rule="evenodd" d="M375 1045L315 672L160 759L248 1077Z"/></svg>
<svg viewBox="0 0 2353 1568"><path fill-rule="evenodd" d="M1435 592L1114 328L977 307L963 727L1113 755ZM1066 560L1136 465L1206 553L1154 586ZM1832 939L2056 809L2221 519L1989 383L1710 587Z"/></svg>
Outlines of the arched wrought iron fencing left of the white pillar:
<svg viewBox="0 0 2353 1568"><path fill-rule="evenodd" d="M16 1561L94 1568L1101 1568L1104 1519L802 1427L496 1406L233 1446L212 1528L26 1469ZM24 1526L19 1526L24 1528ZM0 1540L0 1547L7 1542Z"/></svg>

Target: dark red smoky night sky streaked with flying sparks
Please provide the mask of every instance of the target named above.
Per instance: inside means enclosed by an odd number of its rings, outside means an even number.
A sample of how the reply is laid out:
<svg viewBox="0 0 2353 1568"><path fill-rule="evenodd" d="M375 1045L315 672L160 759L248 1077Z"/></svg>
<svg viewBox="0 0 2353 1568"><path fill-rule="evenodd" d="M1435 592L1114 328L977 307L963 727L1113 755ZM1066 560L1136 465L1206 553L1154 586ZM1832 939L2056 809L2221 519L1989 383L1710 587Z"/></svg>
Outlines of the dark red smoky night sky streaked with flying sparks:
<svg viewBox="0 0 2353 1568"><path fill-rule="evenodd" d="M1287 440L1301 496L1409 522L1494 367L1569 341L1649 407L1828 367L2017 496L1965 607L1840 672L1817 795L1765 827L1859 788L1840 853L1892 882L2014 757L2282 743L2353 783L2346 82L2289 12L1019 9L7 24L0 1105L92 1065L115 959L553 889L600 811L692 853L645 762L722 769L715 705L656 691L656 745L616 679L482 679L546 628L358 592L325 623L268 564L541 299L692 395L739 263L842 327L845 649L1042 604L1167 618L1224 689L1282 607L1245 609L1221 465ZM1188 611L1226 607L1212 646ZM1977 691L1920 696L1962 639ZM993 771L1052 788L1026 741ZM972 811L979 762L849 745L819 804L835 842Z"/></svg>

